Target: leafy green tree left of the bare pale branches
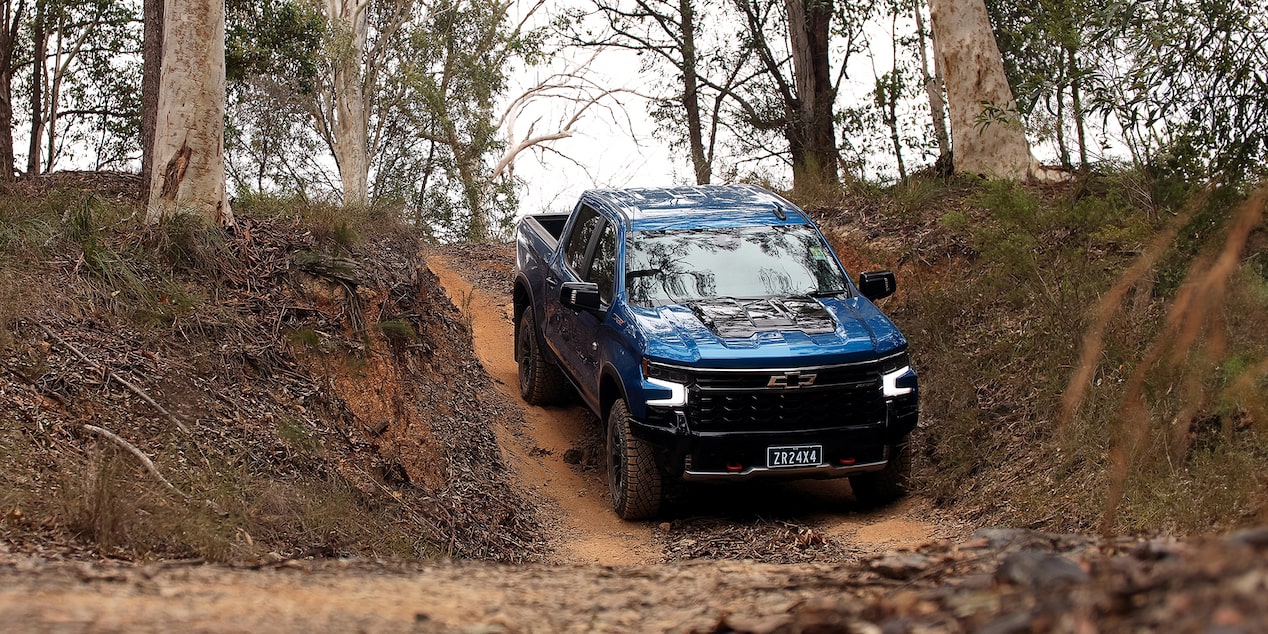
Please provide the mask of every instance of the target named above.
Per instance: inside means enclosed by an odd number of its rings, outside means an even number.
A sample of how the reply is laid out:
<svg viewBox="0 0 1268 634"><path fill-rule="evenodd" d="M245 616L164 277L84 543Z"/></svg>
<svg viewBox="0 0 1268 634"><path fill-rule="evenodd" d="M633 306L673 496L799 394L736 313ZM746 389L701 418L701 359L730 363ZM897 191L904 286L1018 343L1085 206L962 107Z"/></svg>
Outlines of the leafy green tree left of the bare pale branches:
<svg viewBox="0 0 1268 634"><path fill-rule="evenodd" d="M385 164L377 183L384 193L472 240L489 237L514 214L497 101L512 62L541 58L541 32L529 27L541 6L535 1L512 19L510 1L429 5L387 90L401 117L380 128Z"/></svg>

